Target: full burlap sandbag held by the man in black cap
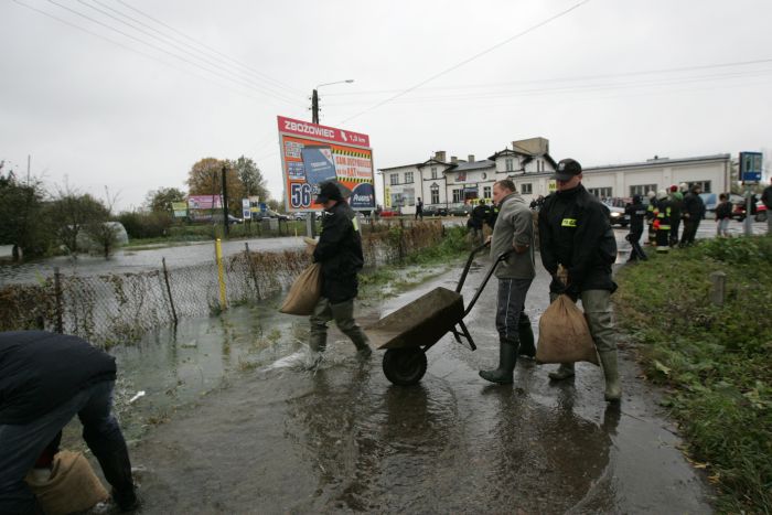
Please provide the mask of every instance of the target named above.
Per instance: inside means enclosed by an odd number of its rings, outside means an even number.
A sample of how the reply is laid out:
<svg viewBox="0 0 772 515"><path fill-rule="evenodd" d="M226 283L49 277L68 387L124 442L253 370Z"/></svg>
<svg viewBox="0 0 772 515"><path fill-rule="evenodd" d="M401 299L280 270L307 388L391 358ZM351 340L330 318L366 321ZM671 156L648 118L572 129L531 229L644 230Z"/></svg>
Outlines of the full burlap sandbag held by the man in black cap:
<svg viewBox="0 0 772 515"><path fill-rule="evenodd" d="M590 362L598 365L598 353L585 313L568 296L560 296L539 319L539 363Z"/></svg>

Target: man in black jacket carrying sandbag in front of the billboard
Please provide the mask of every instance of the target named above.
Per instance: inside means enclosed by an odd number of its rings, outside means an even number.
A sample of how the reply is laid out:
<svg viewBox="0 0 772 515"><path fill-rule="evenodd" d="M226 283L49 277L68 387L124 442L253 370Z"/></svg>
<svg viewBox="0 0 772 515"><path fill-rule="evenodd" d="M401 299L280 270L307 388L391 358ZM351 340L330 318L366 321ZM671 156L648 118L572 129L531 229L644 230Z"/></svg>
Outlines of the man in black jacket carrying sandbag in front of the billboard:
<svg viewBox="0 0 772 515"><path fill-rule="evenodd" d="M313 250L314 262L322 265L322 297L311 315L309 346L317 353L314 365L326 348L328 322L331 320L354 342L360 356L366 357L372 353L369 341L354 321L354 299L358 292L356 273L364 265L360 224L334 181L321 185L317 203L324 206L328 215L323 218L322 234Z"/></svg>

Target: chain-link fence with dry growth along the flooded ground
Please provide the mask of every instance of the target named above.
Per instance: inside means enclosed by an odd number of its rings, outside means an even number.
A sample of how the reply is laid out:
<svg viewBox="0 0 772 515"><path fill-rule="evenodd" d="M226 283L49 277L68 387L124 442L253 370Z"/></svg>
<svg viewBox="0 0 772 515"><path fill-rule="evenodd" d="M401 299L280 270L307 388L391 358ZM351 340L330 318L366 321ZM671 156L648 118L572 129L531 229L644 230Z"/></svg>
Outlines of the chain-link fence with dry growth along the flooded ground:
<svg viewBox="0 0 772 515"><path fill-rule="evenodd" d="M439 222L364 224L365 267L401 261L437 245ZM256 303L292 283L311 262L304 250L244 251L223 258L226 304ZM216 261L195 266L101 276L55 272L34 285L0 288L0 331L45 329L76 334L94 344L135 342L149 330L180 319L218 314L221 283Z"/></svg>

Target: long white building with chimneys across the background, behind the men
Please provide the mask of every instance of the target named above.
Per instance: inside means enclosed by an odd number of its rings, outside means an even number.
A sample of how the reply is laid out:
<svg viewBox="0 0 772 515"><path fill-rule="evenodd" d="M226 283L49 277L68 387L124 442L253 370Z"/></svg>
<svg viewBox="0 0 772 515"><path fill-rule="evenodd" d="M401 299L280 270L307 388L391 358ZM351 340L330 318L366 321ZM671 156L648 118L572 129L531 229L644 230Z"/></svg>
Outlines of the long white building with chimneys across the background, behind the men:
<svg viewBox="0 0 772 515"><path fill-rule="evenodd" d="M580 157L575 157L581 162ZM532 138L513 141L512 148L476 161L439 151L422 163L379 169L384 181L384 208L414 214L418 197L425 210L458 210L479 199L491 202L493 183L510 178L526 202L555 191L550 176L557 167L549 155L549 141ZM630 199L673 184L699 184L704 193L730 190L731 157L728 153L695 158L654 157L643 162L585 167L582 184L600 199Z"/></svg>

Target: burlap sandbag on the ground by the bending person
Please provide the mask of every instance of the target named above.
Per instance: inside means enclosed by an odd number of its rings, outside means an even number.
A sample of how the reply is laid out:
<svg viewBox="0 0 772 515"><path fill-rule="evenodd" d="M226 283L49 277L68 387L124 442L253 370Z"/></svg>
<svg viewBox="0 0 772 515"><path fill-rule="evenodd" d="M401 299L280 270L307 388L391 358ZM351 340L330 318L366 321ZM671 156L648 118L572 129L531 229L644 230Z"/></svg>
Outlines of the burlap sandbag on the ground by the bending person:
<svg viewBox="0 0 772 515"><path fill-rule="evenodd" d="M83 512L109 497L81 452L60 451L47 480L41 481L30 473L25 481L46 515Z"/></svg>

